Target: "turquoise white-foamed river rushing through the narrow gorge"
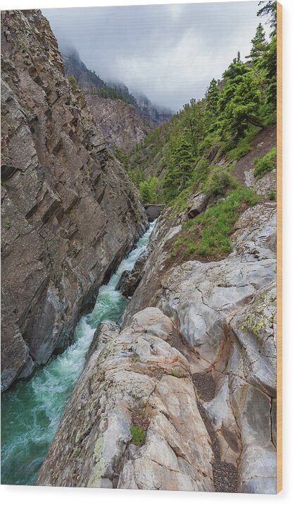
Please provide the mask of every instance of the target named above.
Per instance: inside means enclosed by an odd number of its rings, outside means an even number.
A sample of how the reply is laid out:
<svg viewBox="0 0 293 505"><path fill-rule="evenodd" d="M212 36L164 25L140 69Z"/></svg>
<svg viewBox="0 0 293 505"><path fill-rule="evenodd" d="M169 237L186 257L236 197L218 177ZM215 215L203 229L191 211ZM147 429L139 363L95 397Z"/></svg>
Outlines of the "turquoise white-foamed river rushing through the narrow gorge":
<svg viewBox="0 0 293 505"><path fill-rule="evenodd" d="M94 309L80 319L73 343L27 382L1 398L1 484L33 485L57 430L66 403L85 365L94 331L104 320L117 322L129 300L116 291L124 270L131 270L149 243L151 223L137 247L123 260L108 284L101 286Z"/></svg>

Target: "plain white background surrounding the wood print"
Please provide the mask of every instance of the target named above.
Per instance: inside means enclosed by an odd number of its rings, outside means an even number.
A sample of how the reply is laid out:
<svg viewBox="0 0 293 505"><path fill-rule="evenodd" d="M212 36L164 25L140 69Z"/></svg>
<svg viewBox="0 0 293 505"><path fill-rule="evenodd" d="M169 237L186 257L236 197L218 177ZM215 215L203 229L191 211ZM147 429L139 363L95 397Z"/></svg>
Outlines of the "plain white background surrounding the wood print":
<svg viewBox="0 0 293 505"><path fill-rule="evenodd" d="M202 3L208 0L201 0ZM213 0L220 1L220 0ZM241 0L234 0L241 1ZM53 7L81 7L81 6L111 6L111 5L144 5L144 4L182 4L195 3L194 1L150 1L150 0L2 0L1 9L13 8L53 8ZM284 404L284 425L283 425L283 491L278 496L260 494L211 494L196 492L170 492L170 491L128 491L117 489L71 489L56 487L25 487L6 486L0 487L1 498L4 503L18 503L21 505L54 505L63 504L64 501L70 505L80 505L81 501L86 501L87 505L146 505L153 500L160 505L185 504L210 504L216 500L217 505L232 504L236 500L237 504L245 504L248 501L258 504L292 502L293 498L293 478L292 478L292 384L293 384L293 331L292 331L292 216L293 216L293 83L292 83L292 61L293 61L293 2L292 0L282 0L283 6L283 216L284 216L284 295L283 295L283 404Z"/></svg>

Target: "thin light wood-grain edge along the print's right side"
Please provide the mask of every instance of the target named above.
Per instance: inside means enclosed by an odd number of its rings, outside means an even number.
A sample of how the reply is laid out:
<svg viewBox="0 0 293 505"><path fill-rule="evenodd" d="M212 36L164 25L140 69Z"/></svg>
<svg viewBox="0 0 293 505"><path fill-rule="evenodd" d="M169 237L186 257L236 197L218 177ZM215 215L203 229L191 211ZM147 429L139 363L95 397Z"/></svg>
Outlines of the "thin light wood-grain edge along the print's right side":
<svg viewBox="0 0 293 505"><path fill-rule="evenodd" d="M277 492L282 490L282 5L277 2Z"/></svg>

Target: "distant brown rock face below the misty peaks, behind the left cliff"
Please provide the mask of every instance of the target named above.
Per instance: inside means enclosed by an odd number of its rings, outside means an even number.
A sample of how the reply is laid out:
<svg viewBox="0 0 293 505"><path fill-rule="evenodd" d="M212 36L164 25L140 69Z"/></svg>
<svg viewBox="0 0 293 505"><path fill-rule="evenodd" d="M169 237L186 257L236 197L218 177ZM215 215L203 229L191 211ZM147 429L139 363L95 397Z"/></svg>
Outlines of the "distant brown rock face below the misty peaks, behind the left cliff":
<svg viewBox="0 0 293 505"><path fill-rule="evenodd" d="M134 105L122 100L86 95L87 104L108 145L132 150L151 131Z"/></svg>

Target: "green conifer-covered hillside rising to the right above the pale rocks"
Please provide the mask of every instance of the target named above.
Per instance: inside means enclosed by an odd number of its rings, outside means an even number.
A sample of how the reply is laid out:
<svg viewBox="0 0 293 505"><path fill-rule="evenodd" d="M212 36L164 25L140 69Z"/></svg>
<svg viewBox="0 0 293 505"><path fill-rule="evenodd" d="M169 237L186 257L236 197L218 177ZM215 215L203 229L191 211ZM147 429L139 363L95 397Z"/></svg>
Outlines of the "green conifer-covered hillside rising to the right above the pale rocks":
<svg viewBox="0 0 293 505"><path fill-rule="evenodd" d="M203 99L191 99L130 153L127 170L143 201L149 188L142 183L152 176L159 181L156 199L173 207L172 216L186 208L190 191L201 188L220 197L235 189L218 162L237 162L251 151L261 129L276 121L275 14L275 2L261 4L258 16L269 15L273 29L269 39L259 23L247 61L238 52L222 80L211 80Z"/></svg>

